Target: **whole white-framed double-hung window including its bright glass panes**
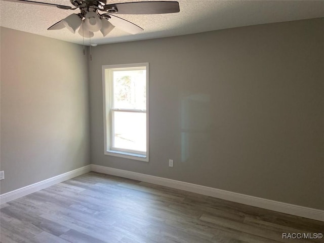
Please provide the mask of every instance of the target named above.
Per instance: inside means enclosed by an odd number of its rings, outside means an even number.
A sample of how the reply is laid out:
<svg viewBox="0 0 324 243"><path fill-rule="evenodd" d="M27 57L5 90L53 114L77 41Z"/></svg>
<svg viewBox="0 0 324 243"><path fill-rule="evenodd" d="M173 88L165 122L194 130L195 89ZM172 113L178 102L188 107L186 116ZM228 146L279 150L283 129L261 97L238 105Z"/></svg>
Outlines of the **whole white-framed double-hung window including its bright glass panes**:
<svg viewBox="0 0 324 243"><path fill-rule="evenodd" d="M148 63L102 72L105 154L148 161Z"/></svg>

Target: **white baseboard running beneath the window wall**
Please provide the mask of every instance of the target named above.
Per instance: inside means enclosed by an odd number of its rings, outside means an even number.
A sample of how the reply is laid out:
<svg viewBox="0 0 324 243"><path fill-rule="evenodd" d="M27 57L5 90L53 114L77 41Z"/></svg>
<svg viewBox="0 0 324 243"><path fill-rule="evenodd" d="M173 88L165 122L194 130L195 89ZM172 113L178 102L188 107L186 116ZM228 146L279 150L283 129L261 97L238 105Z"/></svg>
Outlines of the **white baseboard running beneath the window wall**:
<svg viewBox="0 0 324 243"><path fill-rule="evenodd" d="M235 203L250 205L262 209L273 210L281 213L301 216L305 218L315 219L324 221L324 211L318 209L312 209L302 206L297 206L293 204L281 203L280 201L274 201L269 199L264 199L256 196L249 196L245 194L240 194L236 192L216 189L208 186L200 186L192 183L171 180L167 178L150 176L141 173L125 171L114 169L110 167L91 165L91 171L99 172L108 175L120 176L124 178L129 178L133 180L139 180L143 182L148 182L156 185L167 186L171 188L176 188L180 190L195 192L207 196L217 197L224 200L234 201Z"/></svg>

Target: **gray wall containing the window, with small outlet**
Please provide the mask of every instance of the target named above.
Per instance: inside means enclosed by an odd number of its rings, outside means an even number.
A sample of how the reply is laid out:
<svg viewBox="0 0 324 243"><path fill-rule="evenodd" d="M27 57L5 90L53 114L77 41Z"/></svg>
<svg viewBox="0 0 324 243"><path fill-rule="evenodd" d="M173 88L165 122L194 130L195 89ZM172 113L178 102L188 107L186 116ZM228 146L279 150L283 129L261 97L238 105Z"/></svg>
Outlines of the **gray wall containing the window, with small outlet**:
<svg viewBox="0 0 324 243"><path fill-rule="evenodd" d="M92 164L324 209L323 24L94 48ZM101 66L139 62L150 64L149 163L104 155Z"/></svg>

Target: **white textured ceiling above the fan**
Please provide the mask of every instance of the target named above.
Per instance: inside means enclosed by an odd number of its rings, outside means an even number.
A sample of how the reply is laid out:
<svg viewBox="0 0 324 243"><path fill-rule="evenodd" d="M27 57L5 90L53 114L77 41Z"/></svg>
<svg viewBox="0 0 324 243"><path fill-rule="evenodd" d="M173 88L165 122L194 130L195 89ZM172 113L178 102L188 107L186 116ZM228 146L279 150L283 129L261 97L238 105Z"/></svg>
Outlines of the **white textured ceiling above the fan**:
<svg viewBox="0 0 324 243"><path fill-rule="evenodd" d="M33 0L72 6L69 0ZM148 0L143 0L148 1ZM108 0L107 3L140 2L139 0ZM118 15L144 31L129 34L114 28L106 37L100 31L92 42L100 44L128 42L166 36L183 35L255 24L283 22L324 17L324 1L217 1L178 0L180 13L157 15ZM82 44L79 34L66 28L47 30L55 22L77 10L4 2L0 0L0 25L29 33L44 35L63 41ZM86 39L86 45L89 39Z"/></svg>

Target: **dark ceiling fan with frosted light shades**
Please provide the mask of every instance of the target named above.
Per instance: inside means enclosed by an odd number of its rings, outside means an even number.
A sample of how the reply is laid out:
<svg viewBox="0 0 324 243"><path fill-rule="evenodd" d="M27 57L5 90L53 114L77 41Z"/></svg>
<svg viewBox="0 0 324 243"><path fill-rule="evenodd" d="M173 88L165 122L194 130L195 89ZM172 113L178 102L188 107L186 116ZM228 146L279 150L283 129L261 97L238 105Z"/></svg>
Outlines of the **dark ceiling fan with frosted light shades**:
<svg viewBox="0 0 324 243"><path fill-rule="evenodd" d="M100 30L106 36L114 27L137 34L143 31L140 26L120 18L118 14L167 14L180 12L179 3L175 1L108 3L107 0L70 0L71 6L42 3L29 0L2 0L7 2L51 6L64 10L79 9L80 13L71 14L53 24L48 30L67 28L72 33L77 29L83 37L93 37Z"/></svg>

